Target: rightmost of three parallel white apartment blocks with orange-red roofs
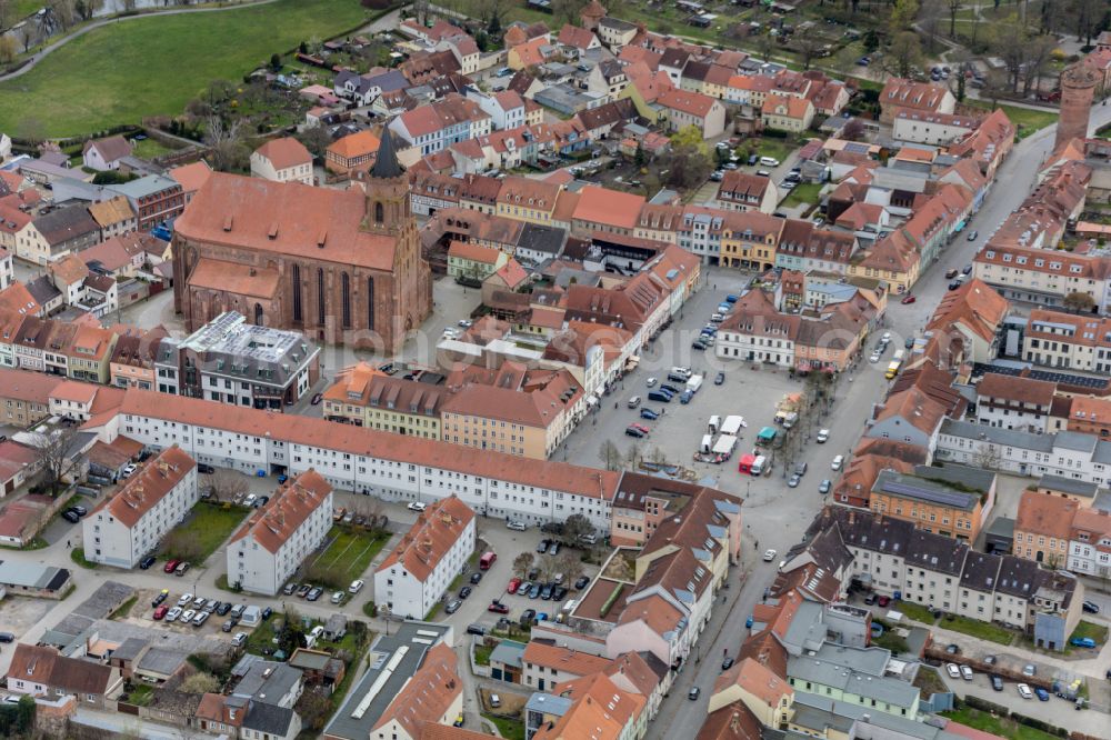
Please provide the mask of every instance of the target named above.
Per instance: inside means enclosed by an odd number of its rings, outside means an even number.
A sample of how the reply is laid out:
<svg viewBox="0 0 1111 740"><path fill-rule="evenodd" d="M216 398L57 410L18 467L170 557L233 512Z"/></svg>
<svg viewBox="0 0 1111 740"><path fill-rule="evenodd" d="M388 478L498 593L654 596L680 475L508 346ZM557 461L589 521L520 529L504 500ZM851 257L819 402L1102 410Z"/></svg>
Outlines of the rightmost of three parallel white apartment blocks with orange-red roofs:
<svg viewBox="0 0 1111 740"><path fill-rule="evenodd" d="M454 496L417 517L374 571L374 602L391 614L423 619L474 552L474 512Z"/></svg>

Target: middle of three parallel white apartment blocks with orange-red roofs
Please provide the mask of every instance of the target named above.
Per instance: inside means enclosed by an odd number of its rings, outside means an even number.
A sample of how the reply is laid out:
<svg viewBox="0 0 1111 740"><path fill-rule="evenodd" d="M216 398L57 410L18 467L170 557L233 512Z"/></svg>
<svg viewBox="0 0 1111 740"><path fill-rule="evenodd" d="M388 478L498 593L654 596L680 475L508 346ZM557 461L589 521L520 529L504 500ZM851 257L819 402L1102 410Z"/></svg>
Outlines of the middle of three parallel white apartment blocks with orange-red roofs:
<svg viewBox="0 0 1111 740"><path fill-rule="evenodd" d="M231 536L228 582L274 596L332 527L332 487L307 470L282 483Z"/></svg>

